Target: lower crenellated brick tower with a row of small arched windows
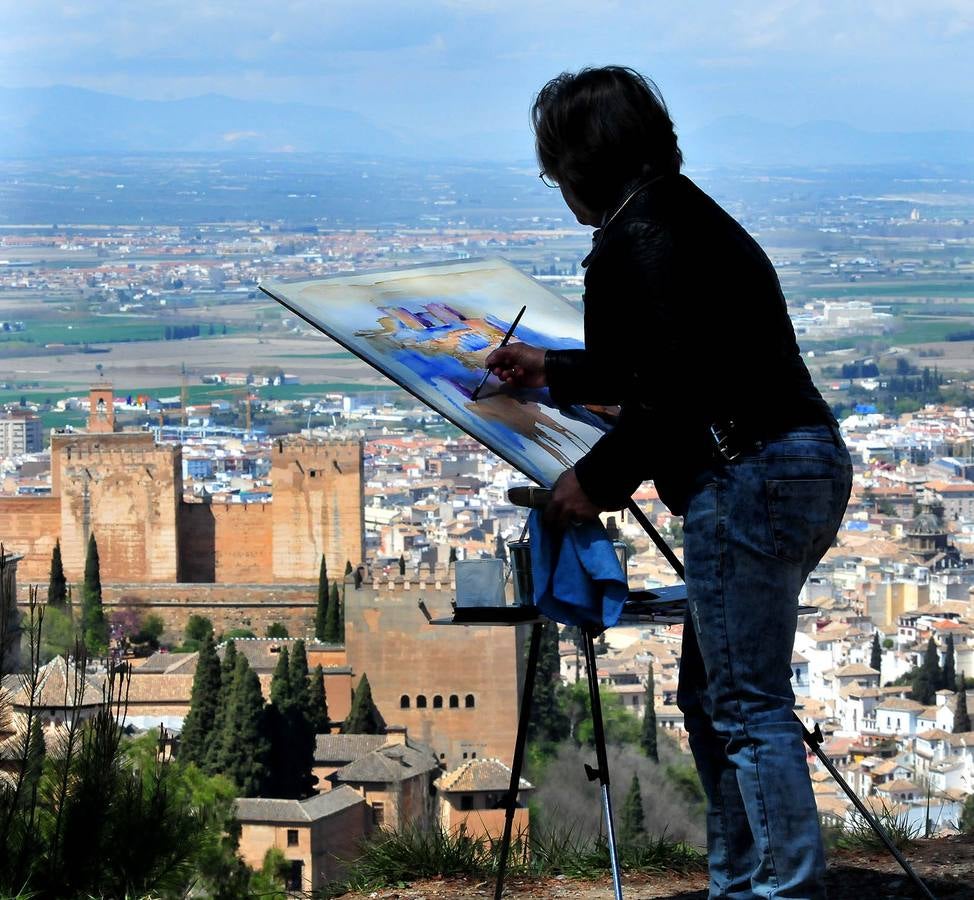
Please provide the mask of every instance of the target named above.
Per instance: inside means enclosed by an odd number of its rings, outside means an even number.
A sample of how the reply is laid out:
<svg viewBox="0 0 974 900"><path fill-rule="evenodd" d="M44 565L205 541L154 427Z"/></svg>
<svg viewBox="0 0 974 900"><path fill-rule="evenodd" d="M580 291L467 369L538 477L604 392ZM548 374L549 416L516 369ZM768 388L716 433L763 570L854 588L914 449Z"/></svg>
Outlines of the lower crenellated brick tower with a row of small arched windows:
<svg viewBox="0 0 974 900"><path fill-rule="evenodd" d="M405 725L449 768L473 753L510 764L528 629L430 625L417 605L422 598L434 618L448 617L454 597L447 581L437 587L396 578L347 590L345 650L353 679L367 674L386 722ZM459 698L458 708L450 708L450 695ZM465 705L467 695L472 708ZM419 696L426 698L425 709L416 706ZM442 708L433 707L436 696Z"/></svg>

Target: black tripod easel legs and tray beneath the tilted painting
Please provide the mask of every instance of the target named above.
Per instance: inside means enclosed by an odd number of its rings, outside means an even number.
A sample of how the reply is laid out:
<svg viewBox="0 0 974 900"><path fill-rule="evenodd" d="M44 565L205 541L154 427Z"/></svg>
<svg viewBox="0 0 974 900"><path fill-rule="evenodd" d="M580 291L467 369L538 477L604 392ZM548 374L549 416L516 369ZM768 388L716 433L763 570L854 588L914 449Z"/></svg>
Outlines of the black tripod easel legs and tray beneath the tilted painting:
<svg viewBox="0 0 974 900"><path fill-rule="evenodd" d="M684 577L683 563L676 556L670 546L663 540L659 532L653 527L652 523L646 518L642 510L630 501L627 507L629 513L645 530L649 538L660 550L663 556L672 566L674 572L682 580ZM624 622L645 622L645 621L682 621L683 610L686 606L686 587L678 585L671 588L660 588L653 591L633 591L629 594L629 600L623 608ZM516 607L515 607L516 609ZM424 611L425 612L425 611ZM520 789L521 771L524 767L524 750L527 744L528 723L531 719L531 699L534 693L535 674L538 667L538 655L541 647L541 629L544 627L545 619L537 614L533 616L525 615L527 609L522 609L522 615L512 617L511 608L492 610L484 607L478 610L476 619L467 617L466 620L457 620L454 616L451 619L430 619L434 625L519 625L527 624L531 626L531 639L528 647L527 667L525 670L524 686L521 693L521 710L518 716L517 737L514 743L514 758L511 762L511 782L507 793L503 796L498 806L503 806L505 810L504 834L501 839L500 855L497 863L497 882L494 888L494 900L501 900L504 892L504 879L507 874L507 863L510 855L511 837L514 826L514 815L517 809L517 795ZM426 613L429 618L428 613ZM602 794L602 813L606 827L606 838L609 850L609 862L612 869L612 886L615 900L623 900L622 879L619 868L618 849L616 847L615 828L612 818L612 802L609 795L609 764L605 743L605 724L602 717L602 702L599 696L599 679L595 657L595 636L598 632L590 629L582 629L583 649L585 653L585 668L588 680L589 697L592 704L592 725L595 739L596 768L585 766L585 774L589 781L598 779ZM795 717L798 718L797 715ZM859 814L869 823L870 827L882 841L883 845L890 852L896 862L900 865L906 875L918 889L921 896L926 900L936 900L930 889L924 884L923 880L914 871L906 858L899 852L893 844L886 830L879 820L873 815L866 805L860 800L849 784L842 778L832 761L822 751L822 733L818 726L814 732L810 732L799 720L802 726L802 733L805 743L818 757L819 761L826 768L829 774L835 779L838 785L845 792L846 796L856 807Z"/></svg>

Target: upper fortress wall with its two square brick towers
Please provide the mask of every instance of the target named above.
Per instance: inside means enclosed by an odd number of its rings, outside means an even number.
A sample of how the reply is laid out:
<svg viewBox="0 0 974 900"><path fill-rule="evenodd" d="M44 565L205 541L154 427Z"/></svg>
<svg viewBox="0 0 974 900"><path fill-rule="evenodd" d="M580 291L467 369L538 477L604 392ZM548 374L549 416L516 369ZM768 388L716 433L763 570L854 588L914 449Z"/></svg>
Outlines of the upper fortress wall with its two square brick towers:
<svg viewBox="0 0 974 900"><path fill-rule="evenodd" d="M60 537L65 573L80 581L94 532L102 582L292 583L363 553L358 441L279 441L269 504L182 502L178 446L151 434L55 435L52 496L0 498L0 541L24 555L22 583L46 583Z"/></svg>

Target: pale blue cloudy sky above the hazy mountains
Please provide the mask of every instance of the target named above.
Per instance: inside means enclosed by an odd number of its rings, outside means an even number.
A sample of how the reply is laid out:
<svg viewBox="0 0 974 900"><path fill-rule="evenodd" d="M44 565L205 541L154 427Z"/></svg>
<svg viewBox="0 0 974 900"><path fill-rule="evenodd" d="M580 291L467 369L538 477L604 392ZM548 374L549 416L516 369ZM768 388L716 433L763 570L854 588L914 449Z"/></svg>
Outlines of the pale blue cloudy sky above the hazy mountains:
<svg viewBox="0 0 974 900"><path fill-rule="evenodd" d="M548 78L608 63L655 79L681 131L974 129L974 0L0 0L0 20L2 87L300 101L433 139L529 141Z"/></svg>

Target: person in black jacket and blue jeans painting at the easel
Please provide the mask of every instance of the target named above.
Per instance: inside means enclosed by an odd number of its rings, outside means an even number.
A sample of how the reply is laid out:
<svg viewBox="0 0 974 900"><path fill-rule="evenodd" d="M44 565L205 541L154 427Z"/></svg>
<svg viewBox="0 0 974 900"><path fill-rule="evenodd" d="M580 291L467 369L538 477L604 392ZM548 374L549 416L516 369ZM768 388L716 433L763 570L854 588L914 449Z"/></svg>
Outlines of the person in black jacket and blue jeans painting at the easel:
<svg viewBox="0 0 974 900"><path fill-rule="evenodd" d="M791 656L799 592L848 501L848 451L771 262L680 173L655 85L614 66L565 73L532 119L541 178L597 229L585 349L512 343L487 365L561 404L621 406L554 485L550 521L619 509L649 478L684 516L678 705L707 795L710 896L823 897Z"/></svg>

